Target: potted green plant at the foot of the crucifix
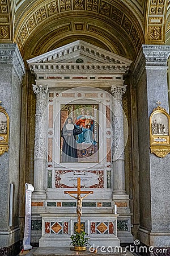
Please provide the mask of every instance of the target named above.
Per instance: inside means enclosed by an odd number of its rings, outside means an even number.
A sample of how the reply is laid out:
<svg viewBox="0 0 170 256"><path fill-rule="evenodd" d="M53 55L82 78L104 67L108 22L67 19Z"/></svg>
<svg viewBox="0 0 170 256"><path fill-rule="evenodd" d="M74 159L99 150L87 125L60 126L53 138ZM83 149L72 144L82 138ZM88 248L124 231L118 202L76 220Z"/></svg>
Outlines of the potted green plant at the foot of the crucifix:
<svg viewBox="0 0 170 256"><path fill-rule="evenodd" d="M70 245L74 246L75 251L85 251L87 250L87 245L90 245L88 243L88 240L90 237L85 237L87 236L86 232L82 231L81 233L76 232L75 234L71 235L71 240L72 242Z"/></svg>

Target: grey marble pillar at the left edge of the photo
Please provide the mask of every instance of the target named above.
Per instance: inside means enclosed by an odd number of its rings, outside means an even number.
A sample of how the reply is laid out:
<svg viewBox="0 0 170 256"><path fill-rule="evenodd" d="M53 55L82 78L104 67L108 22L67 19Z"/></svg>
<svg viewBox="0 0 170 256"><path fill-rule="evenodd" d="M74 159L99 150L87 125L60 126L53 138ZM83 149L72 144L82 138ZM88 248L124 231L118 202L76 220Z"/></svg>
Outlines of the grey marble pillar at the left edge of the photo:
<svg viewBox="0 0 170 256"><path fill-rule="evenodd" d="M0 254L16 247L19 253L20 117L25 68L16 44L0 44L0 100L10 118L9 150L0 160ZM10 183L14 184L12 226L9 226Z"/></svg>

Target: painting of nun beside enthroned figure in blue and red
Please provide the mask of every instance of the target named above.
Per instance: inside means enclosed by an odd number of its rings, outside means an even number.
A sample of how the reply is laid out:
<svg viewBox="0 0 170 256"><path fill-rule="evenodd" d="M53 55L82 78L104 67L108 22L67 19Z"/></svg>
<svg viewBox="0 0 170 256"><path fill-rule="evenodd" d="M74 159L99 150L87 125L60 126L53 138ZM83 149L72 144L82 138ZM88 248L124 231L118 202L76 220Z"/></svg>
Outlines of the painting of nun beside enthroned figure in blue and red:
<svg viewBox="0 0 170 256"><path fill-rule="evenodd" d="M98 105L61 105L61 162L97 163Z"/></svg>

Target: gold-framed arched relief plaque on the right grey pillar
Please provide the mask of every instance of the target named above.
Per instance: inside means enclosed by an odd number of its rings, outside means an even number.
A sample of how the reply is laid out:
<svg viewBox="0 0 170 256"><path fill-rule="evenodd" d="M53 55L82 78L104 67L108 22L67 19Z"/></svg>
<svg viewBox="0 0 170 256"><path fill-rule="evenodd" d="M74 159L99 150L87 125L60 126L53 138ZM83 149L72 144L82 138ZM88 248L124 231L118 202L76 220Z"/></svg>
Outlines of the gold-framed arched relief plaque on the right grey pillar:
<svg viewBox="0 0 170 256"><path fill-rule="evenodd" d="M150 115L150 150L159 158L163 158L170 152L170 116L157 101L157 108Z"/></svg>

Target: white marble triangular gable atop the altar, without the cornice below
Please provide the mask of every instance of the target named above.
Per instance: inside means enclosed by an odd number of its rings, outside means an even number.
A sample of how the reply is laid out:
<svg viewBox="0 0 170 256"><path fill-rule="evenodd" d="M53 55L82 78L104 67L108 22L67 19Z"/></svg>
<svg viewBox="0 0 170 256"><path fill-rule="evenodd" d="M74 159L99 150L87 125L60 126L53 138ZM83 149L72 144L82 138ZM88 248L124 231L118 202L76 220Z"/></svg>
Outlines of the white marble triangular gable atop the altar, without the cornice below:
<svg viewBox="0 0 170 256"><path fill-rule="evenodd" d="M94 46L93 44L77 40L73 43L46 52L40 56L27 60L28 64L61 64L61 63L99 63L130 65L131 60Z"/></svg>

